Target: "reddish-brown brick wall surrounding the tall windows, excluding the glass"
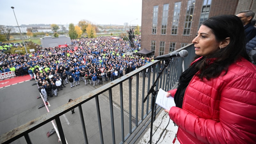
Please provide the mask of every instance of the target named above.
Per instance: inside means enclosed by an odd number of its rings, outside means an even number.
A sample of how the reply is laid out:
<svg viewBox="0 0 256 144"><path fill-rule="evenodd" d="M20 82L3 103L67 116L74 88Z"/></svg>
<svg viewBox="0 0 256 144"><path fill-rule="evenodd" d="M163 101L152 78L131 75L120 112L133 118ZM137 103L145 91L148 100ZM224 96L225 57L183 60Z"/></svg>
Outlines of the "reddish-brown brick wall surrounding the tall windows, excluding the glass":
<svg viewBox="0 0 256 144"><path fill-rule="evenodd" d="M180 19L177 35L171 35L174 3L181 2ZM161 22L163 4L169 4L166 35L161 35ZM188 0L142 0L141 21L141 48L151 50L151 41L156 41L155 56L159 55L160 41L165 42L164 54L169 53L170 42L175 42L175 49L181 47L181 43L190 44L196 36L203 0L195 0L195 8L189 36L183 36L184 21L187 11ZM212 0L209 17L220 14L236 14L238 0ZM158 5L157 32L152 35L153 6Z"/></svg>

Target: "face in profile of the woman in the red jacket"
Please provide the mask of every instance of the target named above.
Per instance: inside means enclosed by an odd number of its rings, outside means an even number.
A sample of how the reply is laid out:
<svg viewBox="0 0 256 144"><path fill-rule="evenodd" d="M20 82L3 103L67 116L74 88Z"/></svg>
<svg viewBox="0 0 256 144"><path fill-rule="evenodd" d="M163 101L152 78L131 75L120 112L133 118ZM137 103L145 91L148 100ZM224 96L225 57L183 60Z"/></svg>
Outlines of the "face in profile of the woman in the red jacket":
<svg viewBox="0 0 256 144"><path fill-rule="evenodd" d="M215 39L212 30L204 25L201 25L197 32L197 36L193 39L195 44L195 53L199 56L209 56L212 53L220 50L221 42Z"/></svg>

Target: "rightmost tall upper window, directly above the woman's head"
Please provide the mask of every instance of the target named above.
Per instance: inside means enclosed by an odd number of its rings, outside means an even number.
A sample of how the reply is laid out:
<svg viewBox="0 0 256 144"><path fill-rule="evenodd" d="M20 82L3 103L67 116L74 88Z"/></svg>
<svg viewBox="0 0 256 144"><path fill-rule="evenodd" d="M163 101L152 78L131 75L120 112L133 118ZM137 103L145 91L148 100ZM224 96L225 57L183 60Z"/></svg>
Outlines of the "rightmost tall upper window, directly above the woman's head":
<svg viewBox="0 0 256 144"><path fill-rule="evenodd" d="M209 12L210 12L210 7L211 7L211 2L212 0L204 0L203 1L203 7L202 7L202 12L199 20L199 26L198 29L200 28L201 24L209 18Z"/></svg>

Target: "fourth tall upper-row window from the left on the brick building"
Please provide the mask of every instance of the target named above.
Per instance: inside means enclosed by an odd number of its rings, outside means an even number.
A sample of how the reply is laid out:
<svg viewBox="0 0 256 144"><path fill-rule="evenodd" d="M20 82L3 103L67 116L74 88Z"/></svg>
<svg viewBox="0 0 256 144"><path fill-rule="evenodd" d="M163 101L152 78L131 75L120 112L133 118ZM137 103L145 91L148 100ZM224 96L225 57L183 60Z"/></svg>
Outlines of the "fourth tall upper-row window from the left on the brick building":
<svg viewBox="0 0 256 144"><path fill-rule="evenodd" d="M185 26L183 31L183 35L185 36L190 35L190 28L191 28L193 13L194 13L194 7L195 7L195 0L189 0L188 6L187 6L186 19L185 19Z"/></svg>

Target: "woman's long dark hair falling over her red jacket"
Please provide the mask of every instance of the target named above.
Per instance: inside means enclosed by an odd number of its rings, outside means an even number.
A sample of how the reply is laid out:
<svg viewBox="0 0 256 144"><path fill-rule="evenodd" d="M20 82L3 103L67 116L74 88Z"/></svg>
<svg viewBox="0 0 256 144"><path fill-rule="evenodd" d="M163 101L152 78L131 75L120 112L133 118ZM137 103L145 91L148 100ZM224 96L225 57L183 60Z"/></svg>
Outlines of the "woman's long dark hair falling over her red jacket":
<svg viewBox="0 0 256 144"><path fill-rule="evenodd" d="M203 60L196 65L196 68L200 69L198 76L201 79L206 77L206 79L209 80L210 78L218 77L223 70L227 73L228 66L241 56L249 60L249 56L245 51L244 26L237 16L213 16L204 21L202 25L211 28L212 33L218 42L230 37L230 43L225 48L214 52L211 56L204 57ZM216 58L216 60L208 65L208 58Z"/></svg>

